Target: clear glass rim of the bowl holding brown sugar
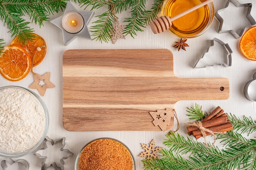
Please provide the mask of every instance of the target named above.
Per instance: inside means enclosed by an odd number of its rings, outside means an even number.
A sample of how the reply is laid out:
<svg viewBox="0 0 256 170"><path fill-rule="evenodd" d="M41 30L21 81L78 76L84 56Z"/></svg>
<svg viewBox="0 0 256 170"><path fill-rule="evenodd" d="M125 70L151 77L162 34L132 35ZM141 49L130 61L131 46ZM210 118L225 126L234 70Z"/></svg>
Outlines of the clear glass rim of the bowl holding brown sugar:
<svg viewBox="0 0 256 170"><path fill-rule="evenodd" d="M76 156L76 161L75 161L75 167L74 167L74 170L79 170L77 168L78 166L78 161L79 161L79 157L80 157L80 154L81 152L83 151L83 149L88 146L90 143L92 143L93 141L97 141L97 140L100 140L100 139L111 139L113 141L117 141L119 142L120 144L122 144L124 147L126 147L126 149L130 152L131 156L132 156L132 160L133 160L133 167L134 169L133 170L136 170L136 161L135 161L135 157L133 156L132 154L132 151L121 141L117 140L117 139L114 139L114 138L111 138L111 137L100 137L100 138L97 138L97 139L93 139L92 141L89 141L87 144L85 144L82 149L78 152L77 156Z"/></svg>

